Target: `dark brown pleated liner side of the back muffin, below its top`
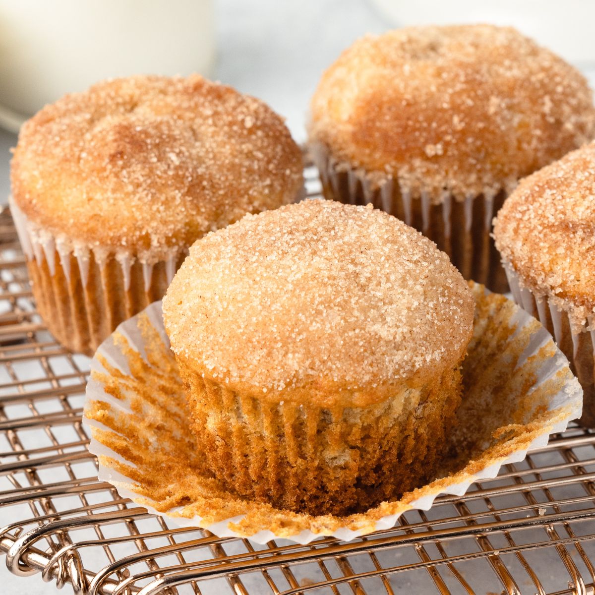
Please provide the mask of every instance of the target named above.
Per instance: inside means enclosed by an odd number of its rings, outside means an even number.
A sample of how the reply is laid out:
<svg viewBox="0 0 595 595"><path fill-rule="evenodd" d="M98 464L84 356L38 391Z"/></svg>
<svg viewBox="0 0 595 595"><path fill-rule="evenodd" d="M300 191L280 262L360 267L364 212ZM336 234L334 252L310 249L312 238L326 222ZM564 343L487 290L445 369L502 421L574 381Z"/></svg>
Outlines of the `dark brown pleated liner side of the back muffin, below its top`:
<svg viewBox="0 0 595 595"><path fill-rule="evenodd" d="M323 146L315 146L312 155L326 199L352 205L372 203L429 237L466 279L496 293L508 291L506 273L490 236L491 220L507 196L504 190L467 196L464 201L445 194L434 204L430 195L414 197L402 192L399 180L386 177L374 183L365 172L334 161Z"/></svg>

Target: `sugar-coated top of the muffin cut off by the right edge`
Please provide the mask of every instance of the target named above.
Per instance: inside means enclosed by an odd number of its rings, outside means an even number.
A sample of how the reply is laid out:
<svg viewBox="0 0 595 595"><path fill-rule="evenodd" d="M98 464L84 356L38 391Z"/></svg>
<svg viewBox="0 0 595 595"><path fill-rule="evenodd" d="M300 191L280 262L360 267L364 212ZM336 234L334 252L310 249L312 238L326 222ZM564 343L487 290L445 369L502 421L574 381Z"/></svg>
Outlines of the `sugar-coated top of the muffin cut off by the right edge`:
<svg viewBox="0 0 595 595"><path fill-rule="evenodd" d="M577 326L595 314L595 143L521 181L494 220L496 247L521 283Z"/></svg>

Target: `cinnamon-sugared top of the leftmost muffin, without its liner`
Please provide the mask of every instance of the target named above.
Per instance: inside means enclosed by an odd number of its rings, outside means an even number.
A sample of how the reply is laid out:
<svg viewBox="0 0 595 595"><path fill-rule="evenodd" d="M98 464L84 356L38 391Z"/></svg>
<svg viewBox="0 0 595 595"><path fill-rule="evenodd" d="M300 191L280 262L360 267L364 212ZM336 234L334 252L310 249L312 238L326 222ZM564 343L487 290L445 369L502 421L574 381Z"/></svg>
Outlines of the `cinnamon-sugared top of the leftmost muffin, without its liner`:
<svg viewBox="0 0 595 595"><path fill-rule="evenodd" d="M46 231L154 260L303 184L281 117L198 75L108 80L46 105L21 128L11 178Z"/></svg>

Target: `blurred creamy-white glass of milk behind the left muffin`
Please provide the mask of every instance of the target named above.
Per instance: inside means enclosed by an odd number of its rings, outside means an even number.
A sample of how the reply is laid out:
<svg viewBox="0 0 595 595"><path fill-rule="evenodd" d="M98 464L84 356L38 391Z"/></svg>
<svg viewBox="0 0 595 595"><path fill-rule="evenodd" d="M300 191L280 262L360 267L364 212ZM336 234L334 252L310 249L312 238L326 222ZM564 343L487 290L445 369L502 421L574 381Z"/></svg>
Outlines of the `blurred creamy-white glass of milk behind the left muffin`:
<svg viewBox="0 0 595 595"><path fill-rule="evenodd" d="M0 0L0 125L98 80L212 74L212 0Z"/></svg>

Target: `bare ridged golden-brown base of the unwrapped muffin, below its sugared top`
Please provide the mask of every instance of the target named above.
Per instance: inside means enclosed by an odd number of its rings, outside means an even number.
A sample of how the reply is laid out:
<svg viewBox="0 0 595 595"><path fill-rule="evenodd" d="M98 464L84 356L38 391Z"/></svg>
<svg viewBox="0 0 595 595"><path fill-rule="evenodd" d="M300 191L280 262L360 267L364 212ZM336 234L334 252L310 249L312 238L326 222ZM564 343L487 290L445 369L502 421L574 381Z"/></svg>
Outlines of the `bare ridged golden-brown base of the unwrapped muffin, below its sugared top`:
<svg viewBox="0 0 595 595"><path fill-rule="evenodd" d="M461 401L458 368L364 408L233 392L177 358L196 448L239 496L312 514L364 511L434 477Z"/></svg>

